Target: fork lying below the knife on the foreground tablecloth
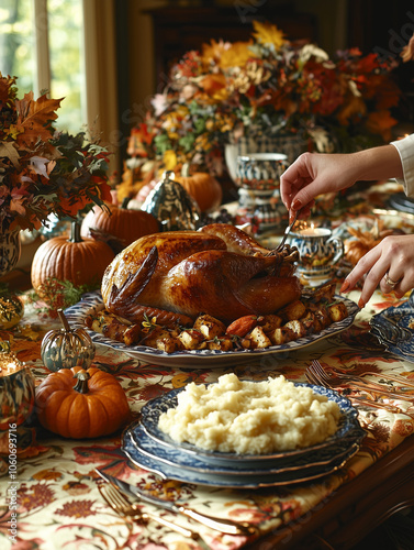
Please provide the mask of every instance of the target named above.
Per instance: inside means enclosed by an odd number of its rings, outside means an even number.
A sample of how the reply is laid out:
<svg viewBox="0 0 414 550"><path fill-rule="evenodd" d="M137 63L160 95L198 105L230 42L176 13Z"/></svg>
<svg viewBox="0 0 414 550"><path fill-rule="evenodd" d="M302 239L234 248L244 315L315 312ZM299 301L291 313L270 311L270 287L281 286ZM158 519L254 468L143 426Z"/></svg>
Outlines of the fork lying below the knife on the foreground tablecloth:
<svg viewBox="0 0 414 550"><path fill-rule="evenodd" d="M132 504L116 487L111 485L110 483L98 483L98 490L100 494L103 496L104 501L113 508L120 516L124 516L131 519L143 519L148 520L153 519L164 527L168 527L169 529L179 532L183 537L191 538L193 540L200 539L200 535L198 532L191 531L190 529L186 529L168 519L164 519L156 514L150 512L142 512L136 505Z"/></svg>

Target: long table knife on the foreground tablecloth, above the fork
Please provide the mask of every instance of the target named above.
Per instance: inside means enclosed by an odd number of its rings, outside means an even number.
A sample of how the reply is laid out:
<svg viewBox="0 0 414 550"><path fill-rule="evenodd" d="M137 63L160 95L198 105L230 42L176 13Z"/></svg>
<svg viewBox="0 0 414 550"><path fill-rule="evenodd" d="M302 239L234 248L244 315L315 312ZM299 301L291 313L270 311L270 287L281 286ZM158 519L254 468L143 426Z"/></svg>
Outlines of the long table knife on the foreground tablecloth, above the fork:
<svg viewBox="0 0 414 550"><path fill-rule="evenodd" d="M112 483L112 485L118 487L122 493L130 497L133 497L135 501L138 499L143 503L152 504L153 506L159 506L160 508L174 512L175 514L182 514L183 516L199 521L199 524L202 524L205 527L210 527L211 529L226 535L257 535L256 527L248 524L247 521L232 521L231 519L221 519L212 516L206 516L205 514L192 510L191 508L186 508L184 506L177 505L175 503L171 503L170 501L165 501L164 498L158 498L156 496L149 495L148 493L144 493L131 483L119 480L118 477L107 474L101 470L96 469L94 471L103 480Z"/></svg>

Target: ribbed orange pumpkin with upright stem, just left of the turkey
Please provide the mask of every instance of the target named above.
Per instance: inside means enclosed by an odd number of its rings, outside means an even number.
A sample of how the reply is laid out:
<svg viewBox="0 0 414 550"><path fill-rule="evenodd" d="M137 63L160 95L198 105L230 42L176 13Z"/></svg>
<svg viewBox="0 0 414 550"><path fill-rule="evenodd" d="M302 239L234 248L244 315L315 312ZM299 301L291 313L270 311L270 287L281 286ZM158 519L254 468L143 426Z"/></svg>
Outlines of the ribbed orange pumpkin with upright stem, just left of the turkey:
<svg viewBox="0 0 414 550"><path fill-rule="evenodd" d="M80 238L74 221L70 238L54 237L36 250L32 262L32 286L37 292L48 278L70 280L75 286L100 286L103 272L115 257L111 246L94 239Z"/></svg>

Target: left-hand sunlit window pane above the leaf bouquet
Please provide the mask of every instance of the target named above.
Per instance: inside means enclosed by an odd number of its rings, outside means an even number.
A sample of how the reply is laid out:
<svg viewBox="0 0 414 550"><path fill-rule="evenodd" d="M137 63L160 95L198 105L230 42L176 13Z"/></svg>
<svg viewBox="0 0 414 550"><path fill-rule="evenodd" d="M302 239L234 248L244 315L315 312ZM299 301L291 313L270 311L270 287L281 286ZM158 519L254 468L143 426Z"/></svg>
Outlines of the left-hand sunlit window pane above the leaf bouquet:
<svg viewBox="0 0 414 550"><path fill-rule="evenodd" d="M33 0L0 2L0 72L16 76L20 96L34 89Z"/></svg>

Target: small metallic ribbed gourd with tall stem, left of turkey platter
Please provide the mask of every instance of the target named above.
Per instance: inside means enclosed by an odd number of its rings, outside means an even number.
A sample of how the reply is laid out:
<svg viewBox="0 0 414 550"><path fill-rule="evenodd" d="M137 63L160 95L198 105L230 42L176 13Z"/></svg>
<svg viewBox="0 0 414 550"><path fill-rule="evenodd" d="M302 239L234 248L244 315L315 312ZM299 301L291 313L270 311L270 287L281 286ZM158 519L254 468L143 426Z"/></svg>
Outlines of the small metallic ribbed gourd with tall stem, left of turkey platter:
<svg viewBox="0 0 414 550"><path fill-rule="evenodd" d="M94 358L94 343L85 329L71 329L61 309L57 310L63 328L49 330L42 340L43 364L49 371L81 366L88 369Z"/></svg>

